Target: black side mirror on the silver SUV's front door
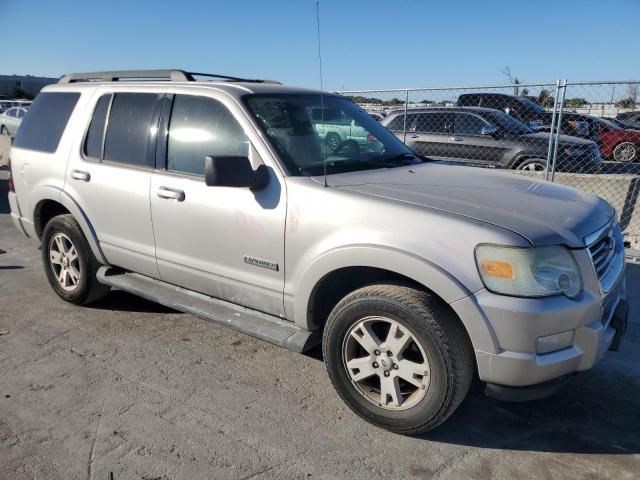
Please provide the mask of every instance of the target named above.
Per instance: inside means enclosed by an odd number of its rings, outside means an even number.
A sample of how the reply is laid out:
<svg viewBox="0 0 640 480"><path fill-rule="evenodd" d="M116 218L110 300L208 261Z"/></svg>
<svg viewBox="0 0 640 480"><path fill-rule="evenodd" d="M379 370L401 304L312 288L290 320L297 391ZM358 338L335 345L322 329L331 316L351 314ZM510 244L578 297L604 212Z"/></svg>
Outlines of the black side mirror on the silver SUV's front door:
<svg viewBox="0 0 640 480"><path fill-rule="evenodd" d="M256 170L247 157L213 157L204 160L204 181L208 187L240 187L259 190L269 183L266 165Z"/></svg>

